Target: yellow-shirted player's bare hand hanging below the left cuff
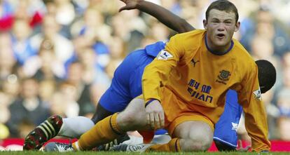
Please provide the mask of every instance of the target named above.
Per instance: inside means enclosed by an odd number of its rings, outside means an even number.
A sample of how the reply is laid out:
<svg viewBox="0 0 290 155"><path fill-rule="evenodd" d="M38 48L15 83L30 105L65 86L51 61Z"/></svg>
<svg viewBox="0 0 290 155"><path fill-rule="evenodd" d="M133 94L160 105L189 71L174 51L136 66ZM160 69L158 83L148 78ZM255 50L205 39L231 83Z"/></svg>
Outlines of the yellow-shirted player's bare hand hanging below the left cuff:
<svg viewBox="0 0 290 155"><path fill-rule="evenodd" d="M145 110L147 123L153 130L164 127L164 111L158 100L153 100Z"/></svg>

